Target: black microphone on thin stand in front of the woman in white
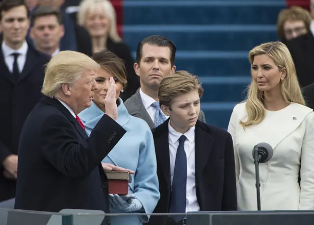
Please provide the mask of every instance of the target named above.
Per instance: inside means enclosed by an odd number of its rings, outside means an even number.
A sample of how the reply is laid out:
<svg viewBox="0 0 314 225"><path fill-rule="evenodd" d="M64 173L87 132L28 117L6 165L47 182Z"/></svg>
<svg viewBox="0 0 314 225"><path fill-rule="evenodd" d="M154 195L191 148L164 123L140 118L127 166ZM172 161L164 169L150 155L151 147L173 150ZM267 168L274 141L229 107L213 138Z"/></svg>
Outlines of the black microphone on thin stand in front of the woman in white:
<svg viewBox="0 0 314 225"><path fill-rule="evenodd" d="M264 142L261 142L254 146L252 151L252 156L254 158L255 163L255 177L256 177L256 195L257 195L257 210L261 211L261 192L260 192L260 171L259 165L260 163L268 162L269 159L273 157L274 151L273 148Z"/></svg>

